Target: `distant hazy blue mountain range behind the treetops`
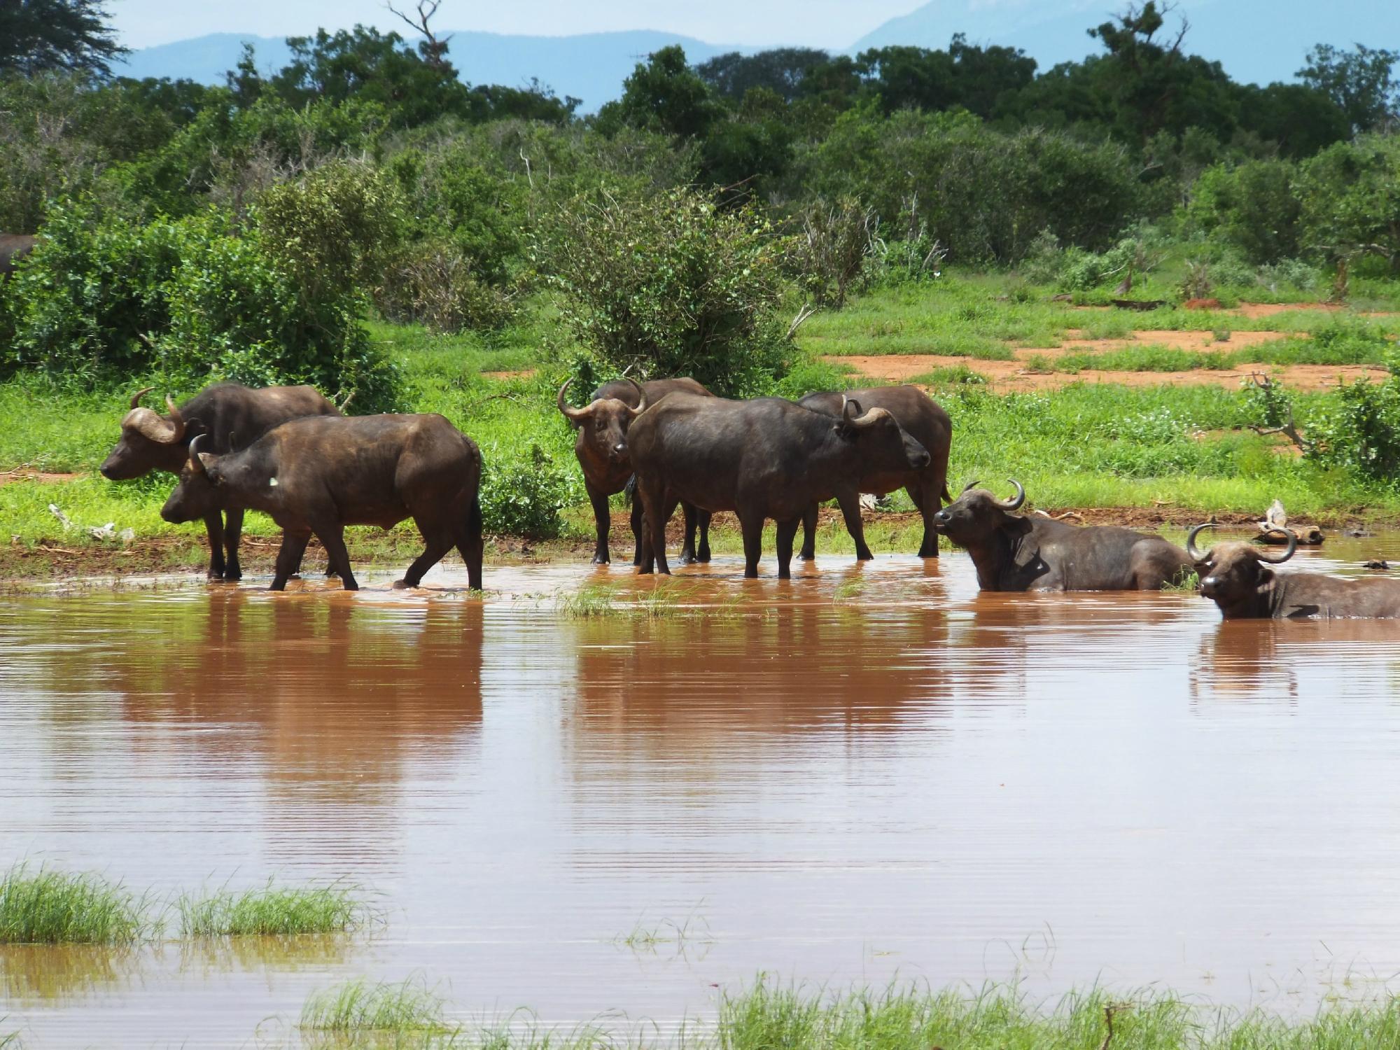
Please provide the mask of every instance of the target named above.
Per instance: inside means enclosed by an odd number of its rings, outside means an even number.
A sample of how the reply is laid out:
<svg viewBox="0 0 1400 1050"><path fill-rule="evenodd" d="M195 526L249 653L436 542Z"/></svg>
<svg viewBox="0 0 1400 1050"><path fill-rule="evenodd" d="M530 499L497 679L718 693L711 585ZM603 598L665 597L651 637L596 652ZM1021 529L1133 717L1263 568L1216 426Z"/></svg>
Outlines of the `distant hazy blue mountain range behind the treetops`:
<svg viewBox="0 0 1400 1050"><path fill-rule="evenodd" d="M913 45L946 48L955 32L973 43L1022 48L1040 69L1095 53L1091 25L1106 21L1121 7L1113 0L932 0L911 14L892 18L851 46ZM1182 0L1180 14L1190 21L1186 49L1215 59L1236 80L1267 84L1291 80L1315 43L1400 50L1400 3L1394 0ZM1175 31L1177 15L1168 27ZM221 83L242 52L244 41L256 48L259 69L287 63L286 41L238 34L211 34L143 48L130 55L120 71L132 77L186 77L206 84ZM707 43L675 34L638 29L580 36L507 36L489 32L456 32L451 56L473 84L521 87L532 77L563 95L584 99L594 112L617 98L633 66L651 52L679 43L693 63L725 52L753 53L759 48Z"/></svg>

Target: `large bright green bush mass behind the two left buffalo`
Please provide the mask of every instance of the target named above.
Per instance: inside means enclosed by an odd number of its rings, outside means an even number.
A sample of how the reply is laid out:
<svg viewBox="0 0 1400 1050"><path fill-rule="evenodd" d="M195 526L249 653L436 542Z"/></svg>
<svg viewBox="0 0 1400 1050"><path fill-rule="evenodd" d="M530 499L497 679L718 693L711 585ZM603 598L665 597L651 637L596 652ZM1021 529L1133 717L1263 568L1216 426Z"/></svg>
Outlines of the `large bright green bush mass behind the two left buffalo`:
<svg viewBox="0 0 1400 1050"><path fill-rule="evenodd" d="M55 206L3 288L0 371L88 388L143 375L175 389L307 382L353 393L361 412L392 409L399 370L360 323L368 251L340 241L375 220L323 190L279 188L253 228L218 209L141 225L91 202Z"/></svg>

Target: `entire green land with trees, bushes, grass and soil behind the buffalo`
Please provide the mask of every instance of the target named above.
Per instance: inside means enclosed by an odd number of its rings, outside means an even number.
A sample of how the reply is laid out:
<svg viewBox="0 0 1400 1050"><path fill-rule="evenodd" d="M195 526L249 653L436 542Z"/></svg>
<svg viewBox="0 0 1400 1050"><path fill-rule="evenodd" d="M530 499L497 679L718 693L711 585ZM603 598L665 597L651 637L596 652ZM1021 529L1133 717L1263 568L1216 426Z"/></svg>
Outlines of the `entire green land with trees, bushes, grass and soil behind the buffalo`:
<svg viewBox="0 0 1400 1050"><path fill-rule="evenodd" d="M157 515L168 479L94 466L133 389L225 378L447 414L483 447L487 532L532 540L587 529L553 392L623 370L732 396L913 379L953 417L955 477L1039 505L1400 512L1394 53L1239 84L1144 3L1050 70L960 36L666 48L581 115L470 84L426 22L322 31L216 87L129 80L101 4L67 7L0 50L0 230L41 234L0 284L11 553L129 528L197 564Z"/></svg>

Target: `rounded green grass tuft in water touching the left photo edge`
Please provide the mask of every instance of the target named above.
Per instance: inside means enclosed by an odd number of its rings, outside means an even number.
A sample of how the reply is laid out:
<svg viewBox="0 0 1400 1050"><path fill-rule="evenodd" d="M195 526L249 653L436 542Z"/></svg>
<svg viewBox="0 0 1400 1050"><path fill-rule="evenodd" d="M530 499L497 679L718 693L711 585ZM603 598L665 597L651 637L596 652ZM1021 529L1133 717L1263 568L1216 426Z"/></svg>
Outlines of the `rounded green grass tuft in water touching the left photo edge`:
<svg viewBox="0 0 1400 1050"><path fill-rule="evenodd" d="M17 864L0 878L0 944L132 944L158 931L147 904L101 875Z"/></svg>

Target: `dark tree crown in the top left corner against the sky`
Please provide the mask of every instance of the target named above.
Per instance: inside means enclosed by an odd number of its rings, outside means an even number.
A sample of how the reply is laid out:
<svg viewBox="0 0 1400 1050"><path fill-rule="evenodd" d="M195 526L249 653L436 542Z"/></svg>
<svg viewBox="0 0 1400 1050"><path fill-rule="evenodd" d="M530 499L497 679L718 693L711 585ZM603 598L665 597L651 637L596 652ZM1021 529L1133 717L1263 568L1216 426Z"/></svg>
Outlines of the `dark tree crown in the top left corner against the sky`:
<svg viewBox="0 0 1400 1050"><path fill-rule="evenodd" d="M112 71L126 55L106 24L106 0L0 1L0 73L32 76L46 70Z"/></svg>

